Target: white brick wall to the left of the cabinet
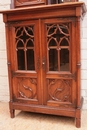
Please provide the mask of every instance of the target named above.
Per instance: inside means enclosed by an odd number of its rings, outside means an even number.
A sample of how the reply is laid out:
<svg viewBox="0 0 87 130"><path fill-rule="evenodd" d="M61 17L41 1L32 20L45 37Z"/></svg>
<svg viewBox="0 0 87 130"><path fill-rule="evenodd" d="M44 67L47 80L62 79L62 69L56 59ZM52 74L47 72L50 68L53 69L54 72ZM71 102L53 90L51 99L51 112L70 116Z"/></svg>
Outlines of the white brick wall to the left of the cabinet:
<svg viewBox="0 0 87 130"><path fill-rule="evenodd" d="M9 8L10 0L0 0L0 10ZM5 27L2 14L0 14L0 101L9 101Z"/></svg>

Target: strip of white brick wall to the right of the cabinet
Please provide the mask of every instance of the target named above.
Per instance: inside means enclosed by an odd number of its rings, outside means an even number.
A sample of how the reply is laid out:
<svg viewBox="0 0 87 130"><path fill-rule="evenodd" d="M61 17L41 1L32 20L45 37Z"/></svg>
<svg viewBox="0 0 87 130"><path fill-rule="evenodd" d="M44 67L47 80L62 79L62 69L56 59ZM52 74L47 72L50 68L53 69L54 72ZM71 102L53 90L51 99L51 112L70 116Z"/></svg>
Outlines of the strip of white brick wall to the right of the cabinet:
<svg viewBox="0 0 87 130"><path fill-rule="evenodd" d="M87 0L83 1L87 7ZM82 22L81 38L81 95L84 97L83 109L87 109L87 13Z"/></svg>

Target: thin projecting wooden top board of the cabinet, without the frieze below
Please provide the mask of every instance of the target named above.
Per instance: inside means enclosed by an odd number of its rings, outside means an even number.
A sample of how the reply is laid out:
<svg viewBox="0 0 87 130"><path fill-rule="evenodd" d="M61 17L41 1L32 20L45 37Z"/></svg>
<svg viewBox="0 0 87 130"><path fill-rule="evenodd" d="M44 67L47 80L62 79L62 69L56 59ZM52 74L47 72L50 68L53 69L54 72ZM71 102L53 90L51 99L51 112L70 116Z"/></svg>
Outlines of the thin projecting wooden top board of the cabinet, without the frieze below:
<svg viewBox="0 0 87 130"><path fill-rule="evenodd" d="M86 7L84 2L66 2L61 4L51 4L51 5L40 5L40 6L32 6L26 8L16 8L16 9L9 9L9 10L0 10L0 13L3 14L10 14L10 13L17 13L17 12L24 12L24 11L40 11L40 10L50 10L50 9L64 9L64 8L76 8L82 7L84 12L86 12Z"/></svg>

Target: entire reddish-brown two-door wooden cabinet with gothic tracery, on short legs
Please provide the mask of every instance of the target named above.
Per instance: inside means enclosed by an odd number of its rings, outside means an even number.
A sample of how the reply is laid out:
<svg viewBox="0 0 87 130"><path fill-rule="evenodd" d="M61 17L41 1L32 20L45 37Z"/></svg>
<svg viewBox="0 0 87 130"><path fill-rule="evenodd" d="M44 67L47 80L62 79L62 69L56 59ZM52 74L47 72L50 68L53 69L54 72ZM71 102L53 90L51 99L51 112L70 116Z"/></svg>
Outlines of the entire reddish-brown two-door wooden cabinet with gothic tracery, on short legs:
<svg viewBox="0 0 87 130"><path fill-rule="evenodd" d="M80 23L83 2L1 11L6 27L10 113L75 117L81 124Z"/></svg>

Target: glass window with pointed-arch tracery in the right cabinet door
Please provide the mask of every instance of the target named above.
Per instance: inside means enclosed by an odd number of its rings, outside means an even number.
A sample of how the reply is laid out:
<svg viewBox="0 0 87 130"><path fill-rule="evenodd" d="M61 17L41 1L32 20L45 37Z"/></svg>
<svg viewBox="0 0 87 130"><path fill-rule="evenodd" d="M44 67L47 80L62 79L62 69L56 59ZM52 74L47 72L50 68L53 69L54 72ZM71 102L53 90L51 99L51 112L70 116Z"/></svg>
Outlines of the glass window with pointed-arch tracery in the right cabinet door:
<svg viewBox="0 0 87 130"><path fill-rule="evenodd" d="M47 24L48 71L70 71L69 23Z"/></svg>

